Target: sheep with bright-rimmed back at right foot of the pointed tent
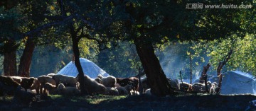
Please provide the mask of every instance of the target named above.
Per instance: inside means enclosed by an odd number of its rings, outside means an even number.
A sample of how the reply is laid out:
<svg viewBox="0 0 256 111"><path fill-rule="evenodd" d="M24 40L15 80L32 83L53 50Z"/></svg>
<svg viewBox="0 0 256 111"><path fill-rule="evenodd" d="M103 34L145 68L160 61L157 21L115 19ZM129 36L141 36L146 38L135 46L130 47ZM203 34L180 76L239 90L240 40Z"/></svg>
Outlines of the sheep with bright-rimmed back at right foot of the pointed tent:
<svg viewBox="0 0 256 111"><path fill-rule="evenodd" d="M103 77L98 75L97 77L101 79L100 83L102 83L105 87L114 87L114 84L117 83L117 79L114 76Z"/></svg>

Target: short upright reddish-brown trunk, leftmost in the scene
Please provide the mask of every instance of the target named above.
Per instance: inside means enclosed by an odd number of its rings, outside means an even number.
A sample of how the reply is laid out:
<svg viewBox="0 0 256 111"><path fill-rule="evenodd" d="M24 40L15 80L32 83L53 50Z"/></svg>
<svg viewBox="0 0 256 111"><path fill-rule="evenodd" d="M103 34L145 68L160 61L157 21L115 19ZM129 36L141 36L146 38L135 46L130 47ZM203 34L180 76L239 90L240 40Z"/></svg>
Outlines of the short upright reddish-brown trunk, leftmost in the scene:
<svg viewBox="0 0 256 111"><path fill-rule="evenodd" d="M4 53L4 76L17 76L16 50Z"/></svg>

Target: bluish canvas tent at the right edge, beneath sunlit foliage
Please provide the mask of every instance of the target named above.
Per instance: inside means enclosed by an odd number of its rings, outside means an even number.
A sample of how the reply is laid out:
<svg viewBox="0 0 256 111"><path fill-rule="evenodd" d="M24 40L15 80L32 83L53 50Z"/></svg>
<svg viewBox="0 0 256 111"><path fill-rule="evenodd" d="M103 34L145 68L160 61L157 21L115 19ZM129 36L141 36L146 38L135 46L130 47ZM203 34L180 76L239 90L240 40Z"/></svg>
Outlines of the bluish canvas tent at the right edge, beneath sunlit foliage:
<svg viewBox="0 0 256 111"><path fill-rule="evenodd" d="M211 82L217 82L218 78L209 78ZM228 71L223 74L220 94L256 94L255 79L252 75L241 71Z"/></svg>

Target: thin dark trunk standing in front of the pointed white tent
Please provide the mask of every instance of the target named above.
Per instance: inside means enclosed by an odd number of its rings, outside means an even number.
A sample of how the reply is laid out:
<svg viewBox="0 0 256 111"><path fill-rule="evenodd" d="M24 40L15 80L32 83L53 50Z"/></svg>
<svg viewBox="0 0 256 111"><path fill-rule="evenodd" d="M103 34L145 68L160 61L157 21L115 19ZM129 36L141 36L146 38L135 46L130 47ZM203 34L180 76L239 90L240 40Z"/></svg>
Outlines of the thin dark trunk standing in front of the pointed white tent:
<svg viewBox="0 0 256 111"><path fill-rule="evenodd" d="M82 94L88 94L87 90L85 90L85 78L84 78L84 73L82 71L82 66L80 64L80 52L78 48L78 37L75 33L75 29L73 26L70 28L70 33L72 37L72 47L73 47L73 55L75 57L75 66L78 69L78 81L80 83L80 90Z"/></svg>

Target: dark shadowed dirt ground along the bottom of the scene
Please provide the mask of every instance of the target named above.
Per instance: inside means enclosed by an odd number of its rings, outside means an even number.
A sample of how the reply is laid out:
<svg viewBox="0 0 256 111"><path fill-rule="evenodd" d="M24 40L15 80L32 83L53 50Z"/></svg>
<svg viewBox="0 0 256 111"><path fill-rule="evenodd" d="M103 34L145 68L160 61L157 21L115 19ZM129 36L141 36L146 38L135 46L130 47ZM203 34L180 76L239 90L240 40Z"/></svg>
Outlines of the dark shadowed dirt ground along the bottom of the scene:
<svg viewBox="0 0 256 111"><path fill-rule="evenodd" d="M93 97L92 97L93 98ZM255 95L181 95L170 97L154 97L136 95L119 100L104 100L97 104L85 100L70 100L69 98L33 100L29 105L11 101L0 101L0 111L125 111L125 110L245 110L249 102L256 100Z"/></svg>

